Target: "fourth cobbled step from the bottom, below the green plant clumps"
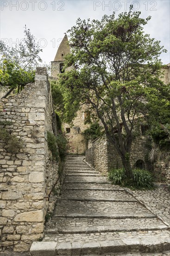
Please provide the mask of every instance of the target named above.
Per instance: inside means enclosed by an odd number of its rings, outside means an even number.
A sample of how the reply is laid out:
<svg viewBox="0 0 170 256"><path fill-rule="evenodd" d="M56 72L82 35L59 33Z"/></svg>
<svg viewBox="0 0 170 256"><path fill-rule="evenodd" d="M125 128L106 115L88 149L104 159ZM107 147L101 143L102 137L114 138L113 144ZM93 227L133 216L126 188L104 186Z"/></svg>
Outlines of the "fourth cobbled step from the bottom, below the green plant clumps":
<svg viewBox="0 0 170 256"><path fill-rule="evenodd" d="M86 190L61 190L61 196L68 199L69 198L78 198L79 200L85 198L93 198L100 200L133 200L136 201L132 197L132 195L128 194L124 189L122 190L95 190L95 189L86 189Z"/></svg>

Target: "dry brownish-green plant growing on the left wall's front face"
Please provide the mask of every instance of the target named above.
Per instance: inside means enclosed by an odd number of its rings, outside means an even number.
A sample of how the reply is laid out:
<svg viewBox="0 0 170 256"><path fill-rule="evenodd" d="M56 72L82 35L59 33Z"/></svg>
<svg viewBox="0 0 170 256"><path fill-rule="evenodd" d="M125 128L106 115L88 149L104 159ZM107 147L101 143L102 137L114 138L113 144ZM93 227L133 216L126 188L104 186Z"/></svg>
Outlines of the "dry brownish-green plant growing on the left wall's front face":
<svg viewBox="0 0 170 256"><path fill-rule="evenodd" d="M18 154L19 150L23 148L23 141L10 134L6 128L0 128L0 140L6 143L5 149L9 153Z"/></svg>

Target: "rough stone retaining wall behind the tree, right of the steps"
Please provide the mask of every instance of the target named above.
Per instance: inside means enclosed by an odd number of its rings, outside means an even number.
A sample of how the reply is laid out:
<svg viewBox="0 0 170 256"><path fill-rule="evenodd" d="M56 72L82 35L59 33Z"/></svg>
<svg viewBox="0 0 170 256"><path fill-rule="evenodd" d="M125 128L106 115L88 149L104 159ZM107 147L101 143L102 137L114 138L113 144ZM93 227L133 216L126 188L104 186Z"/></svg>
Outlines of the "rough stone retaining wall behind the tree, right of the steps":
<svg viewBox="0 0 170 256"><path fill-rule="evenodd" d="M132 168L136 167L136 162L142 160L144 168L151 170L148 161L149 149L147 148L147 136L139 136L132 143L130 162ZM164 183L170 183L170 154L166 154L164 159L154 164L154 172L162 175ZM99 138L92 142L92 147L86 150L86 161L100 172L107 173L112 168L122 168L122 161L114 146L106 139Z"/></svg>

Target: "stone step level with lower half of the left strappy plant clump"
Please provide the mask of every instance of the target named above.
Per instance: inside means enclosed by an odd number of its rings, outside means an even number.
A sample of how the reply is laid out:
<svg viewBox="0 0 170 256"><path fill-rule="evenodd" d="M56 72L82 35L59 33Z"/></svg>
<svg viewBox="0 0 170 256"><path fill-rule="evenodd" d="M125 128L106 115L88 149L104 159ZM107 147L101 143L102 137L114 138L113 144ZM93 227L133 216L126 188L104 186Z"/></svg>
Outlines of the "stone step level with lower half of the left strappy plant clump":
<svg viewBox="0 0 170 256"><path fill-rule="evenodd" d="M64 179L64 182L84 182L84 183L110 183L106 177L104 176L92 176L92 177L88 177L88 176L66 176Z"/></svg>

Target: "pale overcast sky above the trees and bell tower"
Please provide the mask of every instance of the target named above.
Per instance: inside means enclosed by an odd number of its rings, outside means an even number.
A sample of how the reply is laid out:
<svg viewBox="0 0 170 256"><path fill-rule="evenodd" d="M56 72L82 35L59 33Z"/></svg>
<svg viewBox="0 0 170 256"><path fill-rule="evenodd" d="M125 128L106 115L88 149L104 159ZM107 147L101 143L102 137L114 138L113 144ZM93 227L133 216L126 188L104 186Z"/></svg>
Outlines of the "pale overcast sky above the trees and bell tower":
<svg viewBox="0 0 170 256"><path fill-rule="evenodd" d="M10 46L18 44L26 24L43 48L43 61L49 63L64 32L79 17L101 20L104 14L128 11L131 3L143 18L151 15L145 32L161 41L168 50L161 55L162 62L170 63L170 0L0 0L0 38Z"/></svg>

